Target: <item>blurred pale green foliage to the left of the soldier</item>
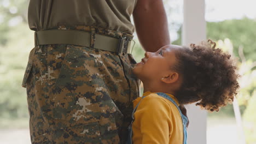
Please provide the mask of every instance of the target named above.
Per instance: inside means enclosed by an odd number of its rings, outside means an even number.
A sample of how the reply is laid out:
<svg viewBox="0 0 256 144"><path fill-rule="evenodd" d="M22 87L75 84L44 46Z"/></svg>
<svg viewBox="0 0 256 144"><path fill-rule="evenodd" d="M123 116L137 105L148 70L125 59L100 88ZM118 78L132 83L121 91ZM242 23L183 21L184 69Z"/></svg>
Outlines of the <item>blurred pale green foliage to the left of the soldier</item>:
<svg viewBox="0 0 256 144"><path fill-rule="evenodd" d="M26 89L21 87L32 49L27 25L28 0L0 0L0 127L6 119L28 117Z"/></svg>

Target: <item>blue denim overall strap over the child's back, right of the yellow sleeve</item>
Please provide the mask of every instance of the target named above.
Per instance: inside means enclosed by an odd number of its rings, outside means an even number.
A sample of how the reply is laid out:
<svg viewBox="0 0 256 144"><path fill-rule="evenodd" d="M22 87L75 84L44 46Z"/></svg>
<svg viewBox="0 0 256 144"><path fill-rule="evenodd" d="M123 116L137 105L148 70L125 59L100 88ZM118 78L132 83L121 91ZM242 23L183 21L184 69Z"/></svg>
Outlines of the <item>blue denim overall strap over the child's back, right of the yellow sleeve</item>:
<svg viewBox="0 0 256 144"><path fill-rule="evenodd" d="M182 124L183 124L183 144L187 144L187 123L188 123L188 118L186 116L184 116L181 112L181 109L179 109L179 106L177 105L177 103L167 94L165 93L156 93L158 94L160 97L164 97L168 100L170 100L179 110L179 114L181 114L181 118L182 118Z"/></svg>

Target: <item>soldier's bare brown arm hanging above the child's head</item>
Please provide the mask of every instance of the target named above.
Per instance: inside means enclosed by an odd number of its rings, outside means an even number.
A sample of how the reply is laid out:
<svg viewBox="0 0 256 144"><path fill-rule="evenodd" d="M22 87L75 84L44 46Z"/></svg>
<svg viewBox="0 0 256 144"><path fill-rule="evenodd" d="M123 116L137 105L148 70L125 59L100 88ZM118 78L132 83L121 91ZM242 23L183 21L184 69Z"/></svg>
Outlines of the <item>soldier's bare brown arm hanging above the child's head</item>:
<svg viewBox="0 0 256 144"><path fill-rule="evenodd" d="M133 10L133 20L144 50L155 52L171 43L162 0L138 0Z"/></svg>

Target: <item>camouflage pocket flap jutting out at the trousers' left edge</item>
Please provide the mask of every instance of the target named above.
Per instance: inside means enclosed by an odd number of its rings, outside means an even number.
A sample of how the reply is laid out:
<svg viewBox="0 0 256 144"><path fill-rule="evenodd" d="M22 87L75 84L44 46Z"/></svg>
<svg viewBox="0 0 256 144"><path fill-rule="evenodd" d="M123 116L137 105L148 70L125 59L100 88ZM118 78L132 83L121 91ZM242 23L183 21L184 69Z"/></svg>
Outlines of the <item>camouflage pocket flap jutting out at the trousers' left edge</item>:
<svg viewBox="0 0 256 144"><path fill-rule="evenodd" d="M33 55L34 54L34 48L30 51L30 56L28 57L27 67L25 70L24 78L22 80L22 87L26 88L28 77L30 76L32 65L33 65Z"/></svg>

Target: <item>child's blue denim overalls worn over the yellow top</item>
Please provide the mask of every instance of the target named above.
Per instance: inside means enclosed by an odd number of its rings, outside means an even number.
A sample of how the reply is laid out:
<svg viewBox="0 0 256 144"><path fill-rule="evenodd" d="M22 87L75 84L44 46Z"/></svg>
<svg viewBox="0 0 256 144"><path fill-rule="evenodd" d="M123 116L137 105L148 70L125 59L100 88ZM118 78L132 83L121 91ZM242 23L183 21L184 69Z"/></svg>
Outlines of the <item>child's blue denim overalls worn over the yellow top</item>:
<svg viewBox="0 0 256 144"><path fill-rule="evenodd" d="M179 110L179 113L181 114L181 118L182 118L182 123L183 123L183 144L187 144L187 123L188 123L188 118L186 116L184 116L181 112L181 109L179 109L178 105L175 103L175 101L167 94L165 93L156 93L158 94L160 97L164 97L168 100L170 100ZM142 99L145 97L142 97ZM141 101L142 101L141 99ZM137 110L138 105L141 103L141 101L139 101L139 103L136 105L135 109L132 112L132 122L128 128L129 130L129 136L128 136L128 140L127 140L127 144L132 144L132 123L134 121L134 113Z"/></svg>

